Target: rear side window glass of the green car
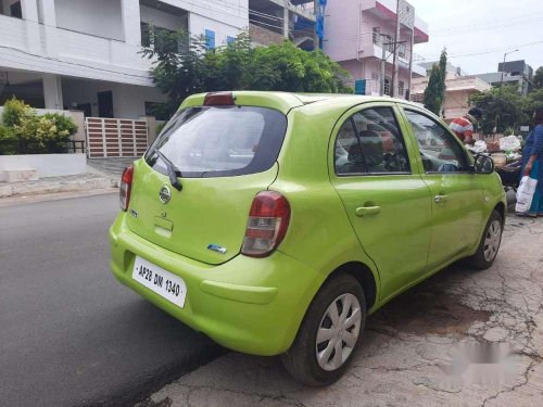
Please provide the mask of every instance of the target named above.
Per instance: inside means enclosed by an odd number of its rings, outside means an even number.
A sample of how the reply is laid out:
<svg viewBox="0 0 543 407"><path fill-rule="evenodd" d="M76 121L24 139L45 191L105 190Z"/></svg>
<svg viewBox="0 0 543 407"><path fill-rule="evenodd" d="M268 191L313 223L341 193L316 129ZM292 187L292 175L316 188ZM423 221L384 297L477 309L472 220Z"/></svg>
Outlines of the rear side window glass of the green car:
<svg viewBox="0 0 543 407"><path fill-rule="evenodd" d="M336 141L336 174L411 173L405 143L391 107L357 112Z"/></svg>

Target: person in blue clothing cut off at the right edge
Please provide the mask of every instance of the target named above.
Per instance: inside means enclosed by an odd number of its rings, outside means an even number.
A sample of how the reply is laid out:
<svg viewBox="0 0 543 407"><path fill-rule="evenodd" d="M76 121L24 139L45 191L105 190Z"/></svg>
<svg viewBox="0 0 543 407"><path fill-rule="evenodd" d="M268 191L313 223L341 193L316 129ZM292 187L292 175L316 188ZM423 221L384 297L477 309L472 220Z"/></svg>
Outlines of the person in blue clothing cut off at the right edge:
<svg viewBox="0 0 543 407"><path fill-rule="evenodd" d="M526 138L522 150L522 176L538 180L532 205L523 216L543 216L543 106L535 109L533 130Z"/></svg>

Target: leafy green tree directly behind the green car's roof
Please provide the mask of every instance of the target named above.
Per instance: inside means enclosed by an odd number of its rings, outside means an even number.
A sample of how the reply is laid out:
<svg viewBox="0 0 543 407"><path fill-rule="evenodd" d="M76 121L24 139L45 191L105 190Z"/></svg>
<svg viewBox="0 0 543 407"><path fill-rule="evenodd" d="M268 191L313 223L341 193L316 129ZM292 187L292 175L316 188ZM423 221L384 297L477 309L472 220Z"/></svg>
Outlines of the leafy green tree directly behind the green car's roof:
<svg viewBox="0 0 543 407"><path fill-rule="evenodd" d="M151 77L168 97L163 107L172 114L192 93L220 90L279 90L352 93L349 73L320 50L303 51L292 42L252 47L247 33L228 46L206 49L204 37L152 31L143 56L154 59Z"/></svg>

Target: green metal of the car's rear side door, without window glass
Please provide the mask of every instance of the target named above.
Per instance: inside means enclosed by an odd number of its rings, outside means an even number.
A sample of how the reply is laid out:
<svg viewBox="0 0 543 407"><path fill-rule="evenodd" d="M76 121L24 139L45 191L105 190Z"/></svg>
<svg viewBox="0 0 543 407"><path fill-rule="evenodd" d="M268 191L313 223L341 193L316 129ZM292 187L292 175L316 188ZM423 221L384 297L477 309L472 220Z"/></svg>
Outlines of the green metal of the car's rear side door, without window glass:
<svg viewBox="0 0 543 407"><path fill-rule="evenodd" d="M331 135L328 165L331 183L343 201L362 247L380 270L379 297L387 297L427 272L432 208L428 187L414 165L415 152L409 137L404 137L404 141L412 174L336 174L333 149L339 129L353 114L377 106L391 107L397 116L391 102L365 103L345 112ZM358 208L368 206L379 207L380 212L357 215Z"/></svg>

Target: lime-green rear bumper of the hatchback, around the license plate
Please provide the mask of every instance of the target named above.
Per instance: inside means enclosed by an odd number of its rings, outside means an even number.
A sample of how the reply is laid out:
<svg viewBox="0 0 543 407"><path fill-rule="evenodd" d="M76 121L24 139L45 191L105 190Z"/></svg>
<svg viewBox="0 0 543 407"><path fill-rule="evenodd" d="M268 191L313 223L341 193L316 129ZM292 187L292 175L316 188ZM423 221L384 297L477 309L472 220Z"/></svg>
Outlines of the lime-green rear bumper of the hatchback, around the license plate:
<svg viewBox="0 0 543 407"><path fill-rule="evenodd" d="M314 269L280 252L207 265L140 238L128 229L125 217L119 214L109 233L111 268L121 283L228 348L270 356L290 347L323 282ZM185 280L184 308L131 278L136 255Z"/></svg>

